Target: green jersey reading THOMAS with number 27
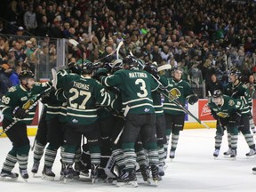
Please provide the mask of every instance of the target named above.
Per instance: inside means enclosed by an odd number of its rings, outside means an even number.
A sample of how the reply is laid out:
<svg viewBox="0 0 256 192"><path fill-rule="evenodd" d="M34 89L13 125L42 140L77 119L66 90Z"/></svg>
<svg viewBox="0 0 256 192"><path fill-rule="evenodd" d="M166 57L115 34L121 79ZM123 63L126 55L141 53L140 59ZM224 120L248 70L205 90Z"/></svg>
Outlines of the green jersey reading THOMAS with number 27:
<svg viewBox="0 0 256 192"><path fill-rule="evenodd" d="M92 124L98 119L97 106L109 106L113 95L91 77L67 74L58 76L58 87L67 99L67 122Z"/></svg>

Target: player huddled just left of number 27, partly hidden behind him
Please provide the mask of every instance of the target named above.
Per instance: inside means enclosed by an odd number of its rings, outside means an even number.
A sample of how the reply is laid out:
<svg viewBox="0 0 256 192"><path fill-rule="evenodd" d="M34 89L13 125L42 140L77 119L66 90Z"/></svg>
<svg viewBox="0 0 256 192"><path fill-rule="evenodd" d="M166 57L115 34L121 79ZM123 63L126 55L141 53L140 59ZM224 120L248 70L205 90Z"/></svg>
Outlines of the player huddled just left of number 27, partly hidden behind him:
<svg viewBox="0 0 256 192"><path fill-rule="evenodd" d="M58 72L59 76L65 74L79 73L80 69L74 62L68 63L68 68L62 69ZM39 164L42 156L44 155L44 148L49 142L45 150L44 156L44 171L42 172L43 180L54 180L55 174L52 172L52 164L55 160L57 149L63 142L63 121L60 121L60 116L66 115L63 113L64 106L63 101L59 101L55 97L61 94L61 89L56 92L51 92L47 97L44 97L42 102L44 103L44 110L38 124L35 148L34 148L34 164L31 172L36 174L38 172ZM65 122L65 120L64 120Z"/></svg>

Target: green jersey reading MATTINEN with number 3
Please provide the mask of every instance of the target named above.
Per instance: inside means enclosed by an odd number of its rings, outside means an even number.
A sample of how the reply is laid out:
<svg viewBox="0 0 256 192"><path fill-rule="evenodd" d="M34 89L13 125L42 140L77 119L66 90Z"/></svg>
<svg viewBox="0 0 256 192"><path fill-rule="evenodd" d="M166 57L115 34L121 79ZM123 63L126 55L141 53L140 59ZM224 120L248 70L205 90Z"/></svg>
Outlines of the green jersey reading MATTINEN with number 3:
<svg viewBox="0 0 256 192"><path fill-rule="evenodd" d="M151 91L156 90L159 84L147 71L121 69L114 75L100 76L100 81L106 86L116 86L120 90L123 107L129 106L129 113L155 113Z"/></svg>

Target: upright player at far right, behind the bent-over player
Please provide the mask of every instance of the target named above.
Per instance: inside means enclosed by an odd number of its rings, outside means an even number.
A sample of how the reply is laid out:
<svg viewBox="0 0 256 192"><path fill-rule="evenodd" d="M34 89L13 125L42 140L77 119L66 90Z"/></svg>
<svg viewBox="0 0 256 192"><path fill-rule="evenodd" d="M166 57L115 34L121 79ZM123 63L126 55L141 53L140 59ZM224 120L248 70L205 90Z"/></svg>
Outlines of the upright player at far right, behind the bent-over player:
<svg viewBox="0 0 256 192"><path fill-rule="evenodd" d="M252 98L246 85L241 82L242 75L238 70L231 70L228 78L229 84L224 87L224 94L235 99L244 100L245 105L241 111L242 117L241 122L239 123L239 131L244 135L244 139L250 148L250 151L246 153L245 156L254 156L256 154L256 150L249 121L249 117L251 116ZM228 135L228 137L230 139L230 135ZM228 142L228 146L230 147L230 142ZM231 153L231 148L229 148L224 155L228 155L229 153Z"/></svg>

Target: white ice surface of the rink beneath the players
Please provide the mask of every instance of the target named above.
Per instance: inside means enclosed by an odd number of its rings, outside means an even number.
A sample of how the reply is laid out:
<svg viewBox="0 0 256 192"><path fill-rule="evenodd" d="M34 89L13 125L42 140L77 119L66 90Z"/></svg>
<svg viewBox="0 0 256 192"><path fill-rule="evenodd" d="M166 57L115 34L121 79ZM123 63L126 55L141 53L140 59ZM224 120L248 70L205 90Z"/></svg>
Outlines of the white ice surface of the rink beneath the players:
<svg viewBox="0 0 256 192"><path fill-rule="evenodd" d="M41 180L43 162L36 178L30 172L33 164L33 153L30 152L28 171L28 183L19 179L13 182L0 181L2 192L24 191L24 192L120 192L123 190L133 191L161 191L161 192L183 192L183 191L255 191L256 175L252 174L252 167L256 166L256 157L246 158L245 153L249 148L245 143L243 135L239 135L236 160L223 157L223 152L228 149L227 135L224 135L220 157L214 159L215 129L184 130L180 133L179 145L175 159L171 162L167 160L164 180L159 182L158 187L149 186L142 179L138 179L139 187L121 187L106 184L91 184L89 179L81 178L71 183L61 183L59 181L60 156L53 166L56 173L55 181ZM30 137L31 143L34 137ZM11 142L7 138L0 138L0 166L4 163L4 158L11 149ZM18 171L16 164L13 172Z"/></svg>

